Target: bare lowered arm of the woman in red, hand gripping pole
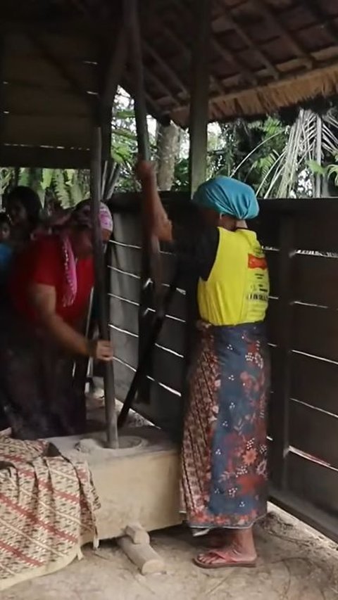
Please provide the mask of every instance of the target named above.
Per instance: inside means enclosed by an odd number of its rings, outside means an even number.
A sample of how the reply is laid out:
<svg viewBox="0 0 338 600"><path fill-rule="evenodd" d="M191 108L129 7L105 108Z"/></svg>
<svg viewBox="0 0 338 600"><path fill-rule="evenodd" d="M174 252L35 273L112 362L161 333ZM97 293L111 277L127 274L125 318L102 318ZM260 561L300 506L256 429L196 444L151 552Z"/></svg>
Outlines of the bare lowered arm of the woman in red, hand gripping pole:
<svg viewBox="0 0 338 600"><path fill-rule="evenodd" d="M30 301L39 317L39 322L65 350L75 355L90 356L103 361L113 359L110 342L87 340L56 313L56 291L53 286L33 283L30 288Z"/></svg>

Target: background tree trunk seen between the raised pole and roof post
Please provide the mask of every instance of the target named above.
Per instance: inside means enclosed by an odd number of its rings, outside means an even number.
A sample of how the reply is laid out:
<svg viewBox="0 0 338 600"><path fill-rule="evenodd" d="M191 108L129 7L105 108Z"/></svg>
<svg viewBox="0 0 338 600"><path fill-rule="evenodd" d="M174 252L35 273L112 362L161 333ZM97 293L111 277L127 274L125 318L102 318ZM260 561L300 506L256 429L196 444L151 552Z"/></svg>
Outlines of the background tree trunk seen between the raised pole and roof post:
<svg viewBox="0 0 338 600"><path fill-rule="evenodd" d="M158 125L156 145L158 189L168 191L174 183L175 162L180 148L180 129L174 124L168 127Z"/></svg>

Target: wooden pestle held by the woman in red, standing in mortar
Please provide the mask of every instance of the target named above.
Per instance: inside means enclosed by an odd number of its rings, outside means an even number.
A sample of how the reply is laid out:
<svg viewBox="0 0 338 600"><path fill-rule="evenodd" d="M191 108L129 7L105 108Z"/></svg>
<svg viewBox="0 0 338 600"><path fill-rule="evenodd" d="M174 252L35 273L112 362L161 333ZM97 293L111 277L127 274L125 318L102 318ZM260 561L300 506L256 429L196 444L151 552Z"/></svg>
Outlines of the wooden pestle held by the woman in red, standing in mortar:
<svg viewBox="0 0 338 600"><path fill-rule="evenodd" d="M100 336L109 340L106 277L104 272L104 248L102 244L99 210L101 202L101 127L94 127L92 142L92 165L90 186L92 196L93 245L95 267L95 290L98 302ZM115 412L115 385L113 363L104 363L104 394L106 408L106 432L109 448L118 447L118 428Z"/></svg>

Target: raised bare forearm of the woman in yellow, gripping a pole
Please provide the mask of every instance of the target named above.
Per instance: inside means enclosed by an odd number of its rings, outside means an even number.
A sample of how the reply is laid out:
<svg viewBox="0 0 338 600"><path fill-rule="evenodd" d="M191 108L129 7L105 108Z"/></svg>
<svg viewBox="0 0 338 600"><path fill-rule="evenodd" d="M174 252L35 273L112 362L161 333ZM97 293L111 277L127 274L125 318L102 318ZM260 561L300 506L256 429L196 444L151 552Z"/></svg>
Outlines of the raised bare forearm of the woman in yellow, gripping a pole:
<svg viewBox="0 0 338 600"><path fill-rule="evenodd" d="M163 242L173 241L173 224L168 219L158 195L153 165L146 160L139 160L135 171L141 181L146 219L151 234Z"/></svg>

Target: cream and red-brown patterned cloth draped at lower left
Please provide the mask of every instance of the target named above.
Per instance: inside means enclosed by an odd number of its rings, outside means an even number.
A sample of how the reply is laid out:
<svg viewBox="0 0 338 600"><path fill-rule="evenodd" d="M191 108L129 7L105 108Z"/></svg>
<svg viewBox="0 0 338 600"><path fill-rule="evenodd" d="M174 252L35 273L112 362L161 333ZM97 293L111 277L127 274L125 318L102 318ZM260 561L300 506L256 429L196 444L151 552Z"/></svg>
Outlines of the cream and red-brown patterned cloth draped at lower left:
<svg viewBox="0 0 338 600"><path fill-rule="evenodd" d="M80 558L98 508L86 463L46 441L0 438L0 590Z"/></svg>

